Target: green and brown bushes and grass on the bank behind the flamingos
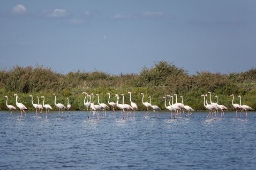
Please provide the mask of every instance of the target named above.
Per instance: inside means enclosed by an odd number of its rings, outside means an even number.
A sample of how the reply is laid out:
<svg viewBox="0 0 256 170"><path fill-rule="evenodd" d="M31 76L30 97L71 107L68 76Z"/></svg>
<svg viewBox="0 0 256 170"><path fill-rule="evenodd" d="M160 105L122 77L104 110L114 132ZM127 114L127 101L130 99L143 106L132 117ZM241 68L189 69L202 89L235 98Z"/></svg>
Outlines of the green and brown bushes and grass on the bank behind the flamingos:
<svg viewBox="0 0 256 170"><path fill-rule="evenodd" d="M212 92L212 100L216 101L218 95L219 104L232 109L230 94L242 96L242 103L256 109L256 69L251 68L246 72L231 72L229 74L212 73L209 71L197 72L189 75L187 70L175 66L168 61L155 62L151 68L143 67L139 74L110 75L106 72L95 70L93 72L69 72L66 75L52 71L50 68L43 68L40 65L27 67L14 66L10 70L0 70L0 110L6 110L5 95L9 96L8 103L16 106L13 94L18 94L18 101L24 103L28 109L34 109L29 95L34 96L34 103L37 103L39 96L40 103L44 95L52 108L54 96L59 103L66 105L68 97L73 110L86 109L84 106L85 95L82 92L100 95L100 102L108 103L107 93L111 94L110 101L116 101L115 94L124 94L125 103L132 101L137 103L139 109L146 109L141 102L144 93L144 101L149 101L152 96L152 104L164 109L163 96L177 94L184 96L184 104L195 110L204 110L201 94ZM178 102L181 102L178 97ZM176 101L174 101L176 102ZM235 98L235 102L239 100ZM94 98L97 103L97 98Z"/></svg>

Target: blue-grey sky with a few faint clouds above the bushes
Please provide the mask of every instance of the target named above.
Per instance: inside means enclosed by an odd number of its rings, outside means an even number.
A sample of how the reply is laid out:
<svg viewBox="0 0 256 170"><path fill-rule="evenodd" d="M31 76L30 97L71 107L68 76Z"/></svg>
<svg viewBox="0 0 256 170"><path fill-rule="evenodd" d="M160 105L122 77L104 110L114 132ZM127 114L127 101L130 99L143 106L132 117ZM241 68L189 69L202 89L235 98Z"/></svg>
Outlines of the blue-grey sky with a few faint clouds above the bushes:
<svg viewBox="0 0 256 170"><path fill-rule="evenodd" d="M243 72L256 64L252 0L0 0L0 69L139 74L159 61Z"/></svg>

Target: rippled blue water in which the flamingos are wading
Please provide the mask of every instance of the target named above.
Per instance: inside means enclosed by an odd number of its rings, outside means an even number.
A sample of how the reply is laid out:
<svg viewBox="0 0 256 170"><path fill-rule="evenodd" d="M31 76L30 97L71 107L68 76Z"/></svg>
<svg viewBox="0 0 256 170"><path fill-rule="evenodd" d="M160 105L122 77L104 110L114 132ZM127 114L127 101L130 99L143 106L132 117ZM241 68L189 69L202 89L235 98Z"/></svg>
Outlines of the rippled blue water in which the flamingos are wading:
<svg viewBox="0 0 256 170"><path fill-rule="evenodd" d="M0 169L255 169L256 114L247 120L226 112L206 120L208 112L169 119L137 112L123 120L87 119L86 111L57 118L20 118L0 112Z"/></svg>

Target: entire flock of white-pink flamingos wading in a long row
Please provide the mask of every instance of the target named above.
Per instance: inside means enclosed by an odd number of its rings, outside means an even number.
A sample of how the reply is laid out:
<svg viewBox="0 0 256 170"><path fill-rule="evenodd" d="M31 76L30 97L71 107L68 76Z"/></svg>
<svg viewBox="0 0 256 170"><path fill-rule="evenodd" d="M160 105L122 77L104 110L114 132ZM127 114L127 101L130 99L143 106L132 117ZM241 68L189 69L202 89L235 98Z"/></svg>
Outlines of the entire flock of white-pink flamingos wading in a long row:
<svg viewBox="0 0 256 170"><path fill-rule="evenodd" d="M131 92L127 92L130 95L130 104L124 103L124 94L120 94L120 96L123 96L123 101L122 103L119 101L119 95L115 94L115 98L116 98L116 102L110 102L110 93L107 93L108 95L108 103L100 103L100 95L96 94L97 96L97 104L94 104L94 94L91 93L88 95L88 93L83 92L82 94L85 94L85 99L84 99L84 105L86 106L87 110L89 108L89 113L88 113L88 118L91 115L91 113L93 114L93 118L97 117L97 119L99 119L99 111L102 111L102 117L107 117L107 109L111 109L112 111L112 116L115 116L115 108L118 108L119 110L121 110L121 115L123 117L123 119L126 119L129 114L131 114L131 111L133 112L132 117L135 117L135 110L138 110L137 104L135 102L132 102L132 96L131 96ZM208 104L208 94L209 94L209 100L210 103ZM54 100L54 104L55 106L59 109L58 115L60 113L60 111L62 111L63 114L63 110L67 109L67 111L69 111L70 114L70 109L71 109L71 104L69 104L69 98L67 98L67 106L65 107L64 104L62 103L56 103L56 94L53 94L55 97ZM152 105L152 97L148 96L148 99L150 100L149 102L144 102L144 93L140 93L140 95L142 95L142 104L146 107L147 111L146 114L144 115L144 117L148 116L149 114L149 109L152 108L153 109L153 117L155 116L155 111L157 112L157 114L160 117L159 111L161 110L161 108L159 106L156 105ZM18 102L18 95L14 94L14 96L16 96L16 106L20 109L20 116L22 116L22 113L26 112L25 110L27 110L26 106L22 103ZM218 104L218 96L216 95L216 103L212 102L212 93L208 92L207 94L202 94L202 97L204 97L204 107L208 110L208 116L207 118L216 118L219 116L219 110L221 112L221 118L225 117L224 116L224 110L227 110L228 108L225 107L222 104ZM232 97L232 106L235 108L236 110L236 117L237 117L237 111L240 111L240 116L242 114L242 110L245 111L245 119L247 118L247 110L251 110L252 108L247 106L247 105L242 105L242 99L241 96L239 95L238 98L240 99L240 103L234 103L234 94L230 95ZM10 105L7 103L8 97L4 96L6 98L6 107L10 109L11 114L12 114L12 110L16 110L16 107ZM31 102L32 102L32 106L35 108L36 110L36 116L37 116L37 109L39 109L40 111L40 116L42 113L43 108L46 109L46 118L47 116L49 117L49 109L52 109L51 106L49 104L44 104L44 96L41 96L41 98L43 98L43 105L39 103L39 96L37 96L37 104L33 102L33 96L29 95L29 97L31 97ZM89 98L89 101L88 101ZM174 103L174 98L176 100L176 102ZM184 105L184 98L183 96L180 96L180 98L182 98L182 103L177 101L177 94L174 95L165 95L163 96L164 99L164 106L165 109L170 111L170 119L173 118L177 118L178 115L181 116L182 112L184 113L184 110L187 111L187 115L186 116L190 116L192 114L191 111L194 111L193 108L191 108L190 106ZM92 99L92 102L91 102ZM169 106L167 106L167 99L169 99ZM11 115L10 114L10 115ZM217 114L217 116L216 116ZM58 117L57 115L57 117ZM223 116L222 116L223 115Z"/></svg>

